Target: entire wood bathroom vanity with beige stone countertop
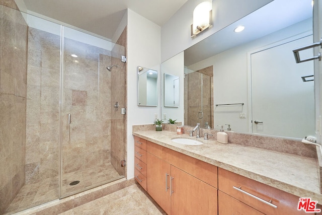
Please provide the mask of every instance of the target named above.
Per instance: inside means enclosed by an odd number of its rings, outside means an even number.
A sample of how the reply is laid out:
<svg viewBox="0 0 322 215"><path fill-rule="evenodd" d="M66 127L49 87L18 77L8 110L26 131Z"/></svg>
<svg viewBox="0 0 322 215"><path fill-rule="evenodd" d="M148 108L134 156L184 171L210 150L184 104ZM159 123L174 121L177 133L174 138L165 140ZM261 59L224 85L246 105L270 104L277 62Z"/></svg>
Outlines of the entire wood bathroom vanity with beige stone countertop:
<svg viewBox="0 0 322 215"><path fill-rule="evenodd" d="M135 179L168 214L307 214L299 197L322 202L316 159L215 139L177 144L196 137L165 130L133 135Z"/></svg>

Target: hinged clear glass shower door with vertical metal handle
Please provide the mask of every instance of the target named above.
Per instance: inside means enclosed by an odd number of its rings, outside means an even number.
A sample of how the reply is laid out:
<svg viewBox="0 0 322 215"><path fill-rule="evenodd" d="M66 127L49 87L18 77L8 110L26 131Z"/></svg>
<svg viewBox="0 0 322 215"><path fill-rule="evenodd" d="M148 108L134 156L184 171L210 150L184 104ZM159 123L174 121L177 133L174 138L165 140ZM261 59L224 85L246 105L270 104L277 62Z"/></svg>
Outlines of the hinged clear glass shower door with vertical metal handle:
<svg viewBox="0 0 322 215"><path fill-rule="evenodd" d="M65 197L124 177L123 46L63 27L61 177ZM111 71L107 69L111 65Z"/></svg>

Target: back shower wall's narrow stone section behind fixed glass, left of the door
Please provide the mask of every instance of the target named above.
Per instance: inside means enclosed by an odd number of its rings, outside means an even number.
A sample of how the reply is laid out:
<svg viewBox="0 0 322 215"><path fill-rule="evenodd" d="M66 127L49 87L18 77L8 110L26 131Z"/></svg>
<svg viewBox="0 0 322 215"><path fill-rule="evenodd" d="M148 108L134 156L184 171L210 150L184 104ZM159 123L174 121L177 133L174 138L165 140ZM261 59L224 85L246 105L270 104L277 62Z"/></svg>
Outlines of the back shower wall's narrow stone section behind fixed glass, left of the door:
<svg viewBox="0 0 322 215"><path fill-rule="evenodd" d="M26 183L58 182L59 73L60 36L29 28Z"/></svg>

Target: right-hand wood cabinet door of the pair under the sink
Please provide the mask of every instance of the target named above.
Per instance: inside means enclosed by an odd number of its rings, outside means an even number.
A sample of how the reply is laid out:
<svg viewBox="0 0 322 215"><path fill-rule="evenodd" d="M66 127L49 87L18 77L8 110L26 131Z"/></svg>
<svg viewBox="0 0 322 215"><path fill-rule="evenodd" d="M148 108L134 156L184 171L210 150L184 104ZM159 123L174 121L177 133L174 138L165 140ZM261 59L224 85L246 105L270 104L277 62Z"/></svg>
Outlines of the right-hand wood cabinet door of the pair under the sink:
<svg viewBox="0 0 322 215"><path fill-rule="evenodd" d="M217 189L171 166L171 214L217 214Z"/></svg>

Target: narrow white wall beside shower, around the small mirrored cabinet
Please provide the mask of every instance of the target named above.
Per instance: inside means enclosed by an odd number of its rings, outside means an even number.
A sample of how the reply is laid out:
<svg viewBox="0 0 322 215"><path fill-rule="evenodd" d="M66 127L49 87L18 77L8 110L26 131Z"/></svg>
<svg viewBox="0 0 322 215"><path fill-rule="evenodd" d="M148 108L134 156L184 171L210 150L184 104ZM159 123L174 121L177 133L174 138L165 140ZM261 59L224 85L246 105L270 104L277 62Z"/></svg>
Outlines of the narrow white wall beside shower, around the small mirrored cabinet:
<svg viewBox="0 0 322 215"><path fill-rule="evenodd" d="M160 71L160 27L128 9L127 43L127 179L130 179L134 177L132 125L152 124L154 113L160 116L160 98L157 107L137 105L137 66Z"/></svg>

